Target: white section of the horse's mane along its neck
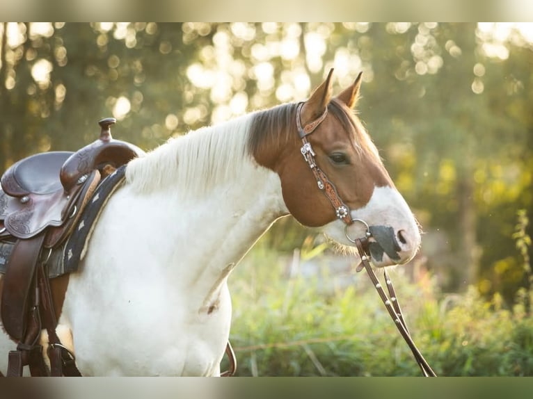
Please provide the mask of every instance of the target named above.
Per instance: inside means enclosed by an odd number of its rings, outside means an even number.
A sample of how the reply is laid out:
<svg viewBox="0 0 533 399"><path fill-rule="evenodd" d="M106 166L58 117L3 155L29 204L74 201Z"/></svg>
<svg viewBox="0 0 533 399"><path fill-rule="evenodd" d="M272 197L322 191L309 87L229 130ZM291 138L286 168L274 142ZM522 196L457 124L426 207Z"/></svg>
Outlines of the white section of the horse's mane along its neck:
<svg viewBox="0 0 533 399"><path fill-rule="evenodd" d="M239 172L248 157L250 115L184 136L170 138L145 156L129 162L127 184L139 193L175 186L180 193L202 195L207 188Z"/></svg>

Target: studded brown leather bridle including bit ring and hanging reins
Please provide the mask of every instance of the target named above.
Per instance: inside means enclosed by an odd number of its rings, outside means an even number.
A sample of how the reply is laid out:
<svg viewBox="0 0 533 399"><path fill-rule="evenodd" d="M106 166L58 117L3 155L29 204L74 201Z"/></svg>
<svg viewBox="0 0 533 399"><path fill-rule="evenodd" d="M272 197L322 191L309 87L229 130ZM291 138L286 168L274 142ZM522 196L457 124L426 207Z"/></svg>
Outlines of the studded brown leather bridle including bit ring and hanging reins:
<svg viewBox="0 0 533 399"><path fill-rule="evenodd" d="M328 107L326 106L326 109L324 110L324 113L322 113L322 115L317 117L317 119L312 120L308 124L305 124L305 126L302 128L301 111L303 108L303 104L303 102L299 103L296 108L296 127L298 128L298 134L303 143L300 151L303 155L303 158L308 163L313 176L317 180L317 186L319 190L321 190L328 198L329 202L333 206L333 209L335 209L335 215L337 215L337 218L344 222L344 234L351 243L356 244L359 256L361 258L361 264L360 266L358 266L357 271L363 270L363 267L365 268L365 270L367 270L367 273L370 279L372 280L372 284L374 284L374 287L378 291L381 300L385 304L385 308L387 309L392 320L394 320L395 325L398 328L401 336L406 341L407 345L411 349L411 352L413 352L413 356L415 357L418 366L420 366L420 369L422 370L424 376L436 377L436 373L433 371L433 369L431 369L426 359L424 359L422 353L420 353L420 350L418 350L413 339L411 338L411 334L407 329L404 316L401 312L399 302L396 298L395 289L392 286L392 281L390 280L387 271L385 270L385 268L383 268L383 277L385 278L385 283L389 296L387 296L387 294L383 290L383 286L381 286L379 279L376 277L376 273L374 273L374 270L370 265L369 259L371 259L371 257L368 250L368 239L372 236L372 233L370 232L369 225L367 224L367 222L365 222L365 220L351 218L349 206L347 206L347 204L342 201L337 192L337 189L335 188L335 185L331 182L330 179L328 179L326 174L317 165L317 161L315 160L316 154L313 151L311 143L307 139L307 136L309 136L313 131L315 131L319 124L321 124L321 122L326 119L326 115L328 115ZM350 225L353 225L354 222L362 223L365 226L365 237L354 239L349 236L348 227Z"/></svg>

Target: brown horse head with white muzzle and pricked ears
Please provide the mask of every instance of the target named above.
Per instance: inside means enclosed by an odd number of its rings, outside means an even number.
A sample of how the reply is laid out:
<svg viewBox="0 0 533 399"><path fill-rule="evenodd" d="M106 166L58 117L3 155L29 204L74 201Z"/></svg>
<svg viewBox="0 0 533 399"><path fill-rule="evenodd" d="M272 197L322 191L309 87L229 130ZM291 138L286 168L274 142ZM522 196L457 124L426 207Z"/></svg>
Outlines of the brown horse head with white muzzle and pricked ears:
<svg viewBox="0 0 533 399"><path fill-rule="evenodd" d="M278 172L287 209L302 225L351 247L372 234L375 266L406 263L420 247L419 226L353 111L361 74L333 97L332 72L293 107L296 122L276 156L256 153L257 161Z"/></svg>

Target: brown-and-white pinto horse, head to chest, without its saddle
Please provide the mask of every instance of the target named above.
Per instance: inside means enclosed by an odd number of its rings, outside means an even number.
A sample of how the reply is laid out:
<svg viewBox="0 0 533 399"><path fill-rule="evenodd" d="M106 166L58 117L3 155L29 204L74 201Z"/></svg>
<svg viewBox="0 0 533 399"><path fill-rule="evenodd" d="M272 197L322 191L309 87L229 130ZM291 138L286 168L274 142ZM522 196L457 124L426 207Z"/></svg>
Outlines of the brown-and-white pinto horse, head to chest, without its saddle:
<svg viewBox="0 0 533 399"><path fill-rule="evenodd" d="M82 375L221 375L228 278L284 216L349 251L373 231L376 268L415 256L420 226L354 111L361 74L333 96L332 73L303 102L190 131L127 163L56 329ZM13 348L0 333L0 359Z"/></svg>

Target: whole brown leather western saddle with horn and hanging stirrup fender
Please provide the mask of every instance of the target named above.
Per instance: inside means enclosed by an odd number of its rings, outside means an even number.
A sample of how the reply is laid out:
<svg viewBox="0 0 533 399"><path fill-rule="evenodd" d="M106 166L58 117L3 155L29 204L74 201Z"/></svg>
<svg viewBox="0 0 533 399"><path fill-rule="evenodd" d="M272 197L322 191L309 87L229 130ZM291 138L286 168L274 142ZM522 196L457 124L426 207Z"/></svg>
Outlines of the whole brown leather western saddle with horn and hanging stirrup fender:
<svg viewBox="0 0 533 399"><path fill-rule="evenodd" d="M100 181L144 154L135 145L111 137L114 118L98 122L100 138L77 152L45 152L24 158L1 177L0 280L3 328L17 342L8 355L8 375L81 375L56 335L56 304L47 261L61 247ZM4 263L4 264L3 264ZM41 329L49 336L49 371L42 357ZM0 373L1 374L1 373Z"/></svg>

